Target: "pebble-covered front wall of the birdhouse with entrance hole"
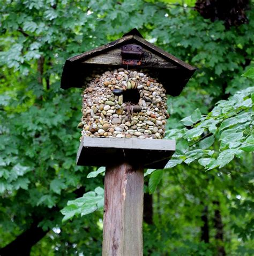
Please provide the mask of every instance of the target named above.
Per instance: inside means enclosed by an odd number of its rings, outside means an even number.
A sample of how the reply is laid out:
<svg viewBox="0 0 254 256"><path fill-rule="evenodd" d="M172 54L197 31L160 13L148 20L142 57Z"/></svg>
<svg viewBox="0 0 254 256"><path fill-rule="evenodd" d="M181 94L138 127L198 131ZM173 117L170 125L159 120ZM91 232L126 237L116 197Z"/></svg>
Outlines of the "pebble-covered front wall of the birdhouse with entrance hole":
<svg viewBox="0 0 254 256"><path fill-rule="evenodd" d="M82 136L164 137L167 96L162 84L146 73L119 68L93 74L82 97Z"/></svg>

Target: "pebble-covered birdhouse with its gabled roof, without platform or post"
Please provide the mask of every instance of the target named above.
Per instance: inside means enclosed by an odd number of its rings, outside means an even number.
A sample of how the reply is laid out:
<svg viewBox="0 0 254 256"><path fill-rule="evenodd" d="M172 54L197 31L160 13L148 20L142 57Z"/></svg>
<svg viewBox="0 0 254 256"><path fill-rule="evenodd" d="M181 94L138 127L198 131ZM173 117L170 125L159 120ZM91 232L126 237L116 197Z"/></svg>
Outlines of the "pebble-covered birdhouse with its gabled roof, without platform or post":
<svg viewBox="0 0 254 256"><path fill-rule="evenodd" d="M82 137L162 139L166 95L179 95L194 72L134 29L66 60L61 88L83 88Z"/></svg>

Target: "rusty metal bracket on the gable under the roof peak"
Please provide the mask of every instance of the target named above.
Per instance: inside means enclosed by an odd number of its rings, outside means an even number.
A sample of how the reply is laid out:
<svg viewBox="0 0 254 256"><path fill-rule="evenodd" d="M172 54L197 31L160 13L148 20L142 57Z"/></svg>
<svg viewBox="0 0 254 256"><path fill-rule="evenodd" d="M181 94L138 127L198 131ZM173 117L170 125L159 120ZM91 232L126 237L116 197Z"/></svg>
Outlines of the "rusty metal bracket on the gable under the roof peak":
<svg viewBox="0 0 254 256"><path fill-rule="evenodd" d="M122 46L122 63L126 65L141 65L143 48L130 44Z"/></svg>

